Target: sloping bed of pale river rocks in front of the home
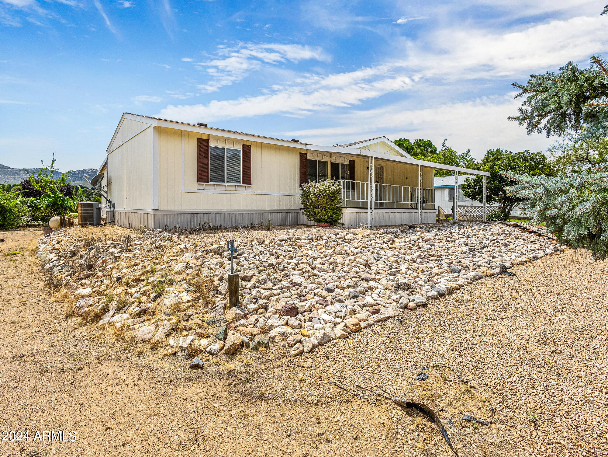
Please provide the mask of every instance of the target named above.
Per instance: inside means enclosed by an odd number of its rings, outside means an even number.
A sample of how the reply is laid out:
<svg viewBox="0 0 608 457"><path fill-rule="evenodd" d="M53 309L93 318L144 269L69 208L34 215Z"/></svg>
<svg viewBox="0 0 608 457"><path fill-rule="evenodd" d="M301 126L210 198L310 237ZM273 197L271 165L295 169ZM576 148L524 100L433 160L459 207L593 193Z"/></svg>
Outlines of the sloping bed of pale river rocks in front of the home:
<svg viewBox="0 0 608 457"><path fill-rule="evenodd" d="M66 315L178 352L228 357L283 344L292 355L346 339L514 265L563 252L551 234L505 223L438 223L227 234L240 306L228 309L230 253L213 235L63 229L36 254ZM200 368L195 360L192 368Z"/></svg>

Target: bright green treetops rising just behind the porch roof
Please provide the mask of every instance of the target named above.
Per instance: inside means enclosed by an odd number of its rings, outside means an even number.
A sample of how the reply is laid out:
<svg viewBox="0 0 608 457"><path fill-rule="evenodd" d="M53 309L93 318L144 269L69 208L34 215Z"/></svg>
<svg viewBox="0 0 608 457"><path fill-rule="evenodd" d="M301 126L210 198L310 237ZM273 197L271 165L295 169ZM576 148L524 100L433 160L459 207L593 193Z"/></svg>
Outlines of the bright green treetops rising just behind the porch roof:
<svg viewBox="0 0 608 457"><path fill-rule="evenodd" d="M477 169L478 166L475 159L471 156L470 149L467 149L466 152L458 154L454 149L447 146L447 138L443 140L440 150L437 150L437 147L432 143L432 141L430 141L430 139L417 139L412 143L409 139L399 138L393 142L415 159L435 162L437 164L451 165L454 167L464 167L473 170ZM435 176L452 176L453 174L453 172L435 170Z"/></svg>

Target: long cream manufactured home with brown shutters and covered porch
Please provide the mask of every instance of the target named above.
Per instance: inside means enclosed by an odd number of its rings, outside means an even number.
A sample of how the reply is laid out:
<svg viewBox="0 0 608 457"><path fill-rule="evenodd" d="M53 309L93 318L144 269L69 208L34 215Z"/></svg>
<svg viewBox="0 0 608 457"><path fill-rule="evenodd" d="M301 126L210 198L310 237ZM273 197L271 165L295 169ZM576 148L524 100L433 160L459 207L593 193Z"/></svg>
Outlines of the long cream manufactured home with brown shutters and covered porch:
<svg viewBox="0 0 608 457"><path fill-rule="evenodd" d="M346 227L435 222L435 169L381 136L339 146L124 113L109 142L107 222L125 227L298 225L300 186L333 178Z"/></svg>

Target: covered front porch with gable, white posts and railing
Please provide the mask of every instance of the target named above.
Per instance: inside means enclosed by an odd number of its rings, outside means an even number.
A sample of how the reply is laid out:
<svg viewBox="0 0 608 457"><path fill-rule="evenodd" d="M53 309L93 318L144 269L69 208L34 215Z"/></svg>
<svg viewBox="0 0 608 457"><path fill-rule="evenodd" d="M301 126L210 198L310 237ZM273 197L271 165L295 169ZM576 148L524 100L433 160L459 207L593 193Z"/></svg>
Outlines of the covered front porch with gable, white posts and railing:
<svg viewBox="0 0 608 457"><path fill-rule="evenodd" d="M382 138L375 143L370 140L334 147L306 145L309 148L306 178L316 181L331 177L336 182L342 192L345 226L373 228L436 222L435 170L453 172L455 176L458 172L483 175L482 219L485 220L485 176L489 173L414 159Z"/></svg>

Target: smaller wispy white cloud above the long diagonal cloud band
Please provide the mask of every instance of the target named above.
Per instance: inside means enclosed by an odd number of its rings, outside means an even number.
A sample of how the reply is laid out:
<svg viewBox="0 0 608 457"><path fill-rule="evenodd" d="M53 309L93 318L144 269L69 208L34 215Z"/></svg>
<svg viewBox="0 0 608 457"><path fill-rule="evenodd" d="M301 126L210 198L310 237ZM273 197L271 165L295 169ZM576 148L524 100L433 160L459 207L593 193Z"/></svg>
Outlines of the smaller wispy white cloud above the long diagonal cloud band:
<svg viewBox="0 0 608 457"><path fill-rule="evenodd" d="M286 61L297 63L311 59L325 62L331 60L331 56L322 48L300 44L243 43L236 47L218 46L216 54L218 58L195 64L206 68L207 74L212 77L209 82L198 86L202 92L216 92L223 86L239 82L265 64L277 65Z"/></svg>

